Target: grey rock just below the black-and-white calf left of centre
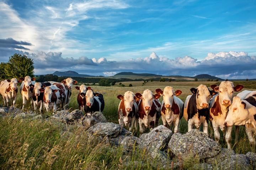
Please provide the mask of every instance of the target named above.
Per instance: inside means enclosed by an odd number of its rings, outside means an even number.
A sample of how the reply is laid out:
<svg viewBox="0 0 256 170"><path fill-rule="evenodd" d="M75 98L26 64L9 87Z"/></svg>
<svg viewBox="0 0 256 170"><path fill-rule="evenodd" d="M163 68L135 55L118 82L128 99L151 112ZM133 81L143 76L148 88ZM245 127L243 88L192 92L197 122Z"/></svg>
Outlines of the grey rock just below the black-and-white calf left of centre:
<svg viewBox="0 0 256 170"><path fill-rule="evenodd" d="M84 125L86 130L97 123L106 123L106 122L107 122L107 119L101 112L94 112L94 114L85 115L84 117L79 119L79 124Z"/></svg>

